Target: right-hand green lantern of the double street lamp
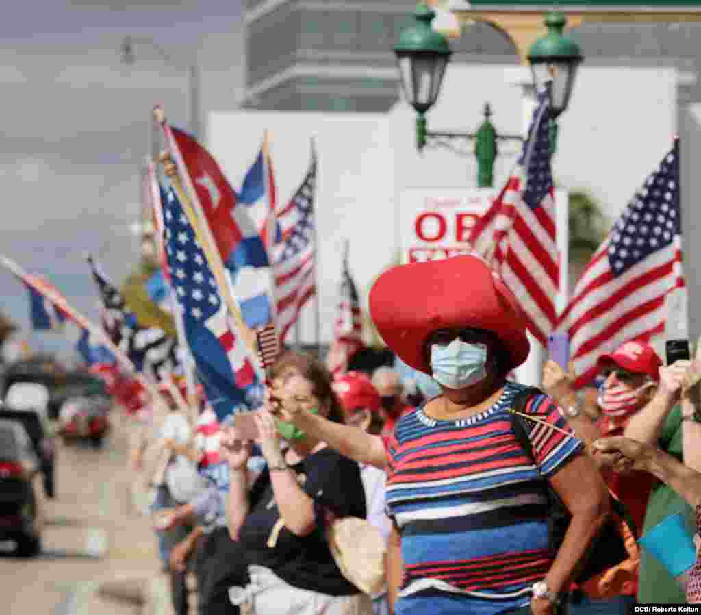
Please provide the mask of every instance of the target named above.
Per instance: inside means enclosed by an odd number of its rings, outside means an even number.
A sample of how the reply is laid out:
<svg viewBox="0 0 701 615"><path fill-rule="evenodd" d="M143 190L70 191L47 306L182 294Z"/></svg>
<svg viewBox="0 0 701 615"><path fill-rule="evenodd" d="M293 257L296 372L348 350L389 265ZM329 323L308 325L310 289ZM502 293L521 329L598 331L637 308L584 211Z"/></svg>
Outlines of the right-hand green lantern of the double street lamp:
<svg viewBox="0 0 701 615"><path fill-rule="evenodd" d="M545 15L547 34L529 49L533 84L540 90L550 84L550 155L557 143L557 116L569 105L577 69L584 60L578 44L562 32L567 18L560 11Z"/></svg>

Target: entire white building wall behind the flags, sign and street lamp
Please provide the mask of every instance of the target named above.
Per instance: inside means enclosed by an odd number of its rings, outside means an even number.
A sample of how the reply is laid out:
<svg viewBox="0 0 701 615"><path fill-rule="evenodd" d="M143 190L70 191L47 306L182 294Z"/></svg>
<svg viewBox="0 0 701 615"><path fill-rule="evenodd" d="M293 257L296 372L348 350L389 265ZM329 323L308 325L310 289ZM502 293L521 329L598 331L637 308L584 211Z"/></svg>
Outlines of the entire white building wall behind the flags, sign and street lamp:
<svg viewBox="0 0 701 615"><path fill-rule="evenodd" d="M484 102L490 102L497 130L521 133L522 93L508 81L513 68L450 66L429 128L475 131ZM583 65L570 108L560 119L557 186L589 190L613 222L671 144L676 81L673 68ZM304 177L309 137L315 137L323 342L333 333L343 239L350 241L351 271L365 303L374 277L395 257L397 194L407 188L475 186L472 155L444 149L418 154L414 121L414 111L404 102L386 115L221 111L209 116L208 144L235 189L264 130L270 131L278 202L287 201ZM503 144L501 151L496 187L508 177L518 147ZM311 308L302 333L303 342L314 341Z"/></svg>

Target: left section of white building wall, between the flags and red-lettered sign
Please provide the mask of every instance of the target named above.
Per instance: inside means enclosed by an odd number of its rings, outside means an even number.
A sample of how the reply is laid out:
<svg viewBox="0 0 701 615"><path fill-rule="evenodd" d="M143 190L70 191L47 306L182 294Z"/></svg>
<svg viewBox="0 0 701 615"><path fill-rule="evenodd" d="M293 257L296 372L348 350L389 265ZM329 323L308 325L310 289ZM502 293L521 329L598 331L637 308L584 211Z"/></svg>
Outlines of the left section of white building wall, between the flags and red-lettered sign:
<svg viewBox="0 0 701 615"><path fill-rule="evenodd" d="M287 203L304 179L310 138L318 155L315 215L318 224L321 339L333 337L343 242L363 299L370 281L393 257L394 157L384 114L236 111L210 115L208 144L235 190L270 135L278 203ZM313 302L313 300L312 300ZM315 342L313 303L302 314L301 341ZM288 341L293 339L292 333Z"/></svg>

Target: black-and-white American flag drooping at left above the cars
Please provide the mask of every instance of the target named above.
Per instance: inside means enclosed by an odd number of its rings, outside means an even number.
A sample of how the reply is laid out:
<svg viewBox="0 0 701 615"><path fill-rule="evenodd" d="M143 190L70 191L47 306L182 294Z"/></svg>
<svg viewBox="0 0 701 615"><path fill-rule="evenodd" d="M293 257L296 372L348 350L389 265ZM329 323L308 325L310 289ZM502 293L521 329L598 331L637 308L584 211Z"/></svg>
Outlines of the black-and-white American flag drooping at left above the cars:
<svg viewBox="0 0 701 615"><path fill-rule="evenodd" d="M180 370L177 342L159 327L142 327L107 274L88 257L102 300L103 328L111 341L134 363L137 372L156 380Z"/></svg>

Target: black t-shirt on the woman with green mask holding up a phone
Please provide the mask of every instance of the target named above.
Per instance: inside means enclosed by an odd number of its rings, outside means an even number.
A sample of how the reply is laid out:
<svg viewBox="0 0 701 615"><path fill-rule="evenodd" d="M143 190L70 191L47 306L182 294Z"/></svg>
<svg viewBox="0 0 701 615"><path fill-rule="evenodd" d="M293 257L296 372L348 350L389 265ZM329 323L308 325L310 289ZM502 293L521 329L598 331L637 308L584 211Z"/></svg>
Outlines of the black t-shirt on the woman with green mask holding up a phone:
<svg viewBox="0 0 701 615"><path fill-rule="evenodd" d="M365 490L358 464L324 448L290 468L304 492L314 499L316 527L308 536L295 536L283 527L275 545L268 546L280 511L266 469L251 489L250 512L239 532L248 562L271 569L285 583L301 589L334 596L360 593L336 566L324 529L325 511L365 518Z"/></svg>

